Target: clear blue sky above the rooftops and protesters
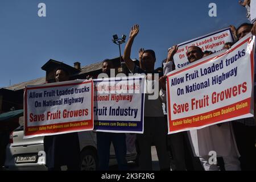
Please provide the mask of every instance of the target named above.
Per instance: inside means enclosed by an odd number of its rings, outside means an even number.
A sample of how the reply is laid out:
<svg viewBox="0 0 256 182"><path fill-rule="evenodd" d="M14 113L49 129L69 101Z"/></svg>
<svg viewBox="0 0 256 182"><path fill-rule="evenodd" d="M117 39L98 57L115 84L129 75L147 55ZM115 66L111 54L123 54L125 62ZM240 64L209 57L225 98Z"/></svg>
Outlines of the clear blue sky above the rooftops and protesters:
<svg viewBox="0 0 256 182"><path fill-rule="evenodd" d="M40 2L46 17L38 16ZM208 15L212 2L217 17ZM49 59L84 66L117 57L112 35L128 38L135 23L131 57L154 49L157 68L174 44L243 22L246 11L236 0L0 0L0 87L45 76Z"/></svg>

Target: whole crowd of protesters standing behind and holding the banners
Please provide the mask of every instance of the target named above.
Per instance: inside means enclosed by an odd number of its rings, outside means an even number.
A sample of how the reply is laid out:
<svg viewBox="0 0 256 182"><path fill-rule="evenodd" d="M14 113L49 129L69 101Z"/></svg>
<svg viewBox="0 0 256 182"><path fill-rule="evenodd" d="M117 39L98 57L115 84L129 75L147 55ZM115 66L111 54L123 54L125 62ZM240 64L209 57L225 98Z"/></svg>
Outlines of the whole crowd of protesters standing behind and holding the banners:
<svg viewBox="0 0 256 182"><path fill-rule="evenodd" d="M256 34L256 19L250 15L250 1L243 1L240 4L246 7L247 18L251 23L243 23L240 27L230 26L235 41L242 39L245 35ZM254 6L254 5L253 5ZM174 55L178 46L173 46L168 50L166 63L163 68L155 69L156 56L151 49L139 49L139 66L131 60L131 48L136 36L139 34L139 25L131 27L129 40L126 43L123 53L123 60L131 73L147 76L147 80L154 83L159 82L159 97L156 100L149 100L145 97L144 104L144 133L137 134L137 152L139 170L152 170L151 144L154 143L159 159L160 170L205 170L218 171L225 169L227 171L256 170L256 122L254 118L239 119L232 122L225 122L218 125L212 125L200 130L183 131L176 134L167 135L167 117L164 115L162 104L166 102L166 78L167 73L174 71ZM225 43L223 49L229 49L235 42ZM192 46L187 50L187 59L193 63L205 56L211 55L211 51L202 51L200 47ZM114 68L109 60L102 62L102 72L110 75L110 69ZM65 73L64 69L56 70L56 81L65 81L68 78L60 77ZM156 80L152 74L159 74L159 80ZM150 86L152 86L150 85ZM254 99L255 102L255 99ZM56 135L45 138L45 147L48 156L57 158L57 151L61 150L61 141L77 138L77 134ZM59 142L59 144L56 144ZM125 134L101 133L97 132L97 149L99 165L98 170L108 170L110 144L113 142L115 155L117 156L118 169L128 170L126 156ZM67 155L79 156L77 144L68 143L69 150ZM56 147L57 146L57 147ZM65 147L67 148L67 147ZM72 149L71 149L72 148ZM216 151L217 163L209 163L209 151ZM50 169L59 169L63 165L59 160L52 163L54 159L48 158ZM67 162L68 169L76 169L75 162ZM72 164L75 164L72 166Z"/></svg>

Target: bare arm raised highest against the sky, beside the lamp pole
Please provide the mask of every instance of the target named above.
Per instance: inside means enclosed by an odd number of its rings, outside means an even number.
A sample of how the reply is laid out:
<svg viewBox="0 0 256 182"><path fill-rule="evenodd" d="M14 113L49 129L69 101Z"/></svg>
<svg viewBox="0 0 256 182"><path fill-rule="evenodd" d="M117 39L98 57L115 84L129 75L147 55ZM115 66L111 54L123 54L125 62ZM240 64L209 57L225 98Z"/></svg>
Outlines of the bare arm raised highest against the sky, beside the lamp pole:
<svg viewBox="0 0 256 182"><path fill-rule="evenodd" d="M131 60L131 46L133 46L134 38L139 33L139 25L134 24L133 27L131 27L129 40L126 43L125 51L123 52L123 60L125 61L125 64L130 71L133 71L134 69L134 63L133 60Z"/></svg>

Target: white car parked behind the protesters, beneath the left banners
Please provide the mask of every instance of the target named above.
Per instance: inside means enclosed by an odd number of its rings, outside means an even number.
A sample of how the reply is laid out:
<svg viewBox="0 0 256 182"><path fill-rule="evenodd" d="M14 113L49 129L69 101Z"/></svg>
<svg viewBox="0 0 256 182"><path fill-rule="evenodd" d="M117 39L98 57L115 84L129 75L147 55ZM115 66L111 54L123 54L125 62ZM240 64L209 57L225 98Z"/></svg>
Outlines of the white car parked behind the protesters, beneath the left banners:
<svg viewBox="0 0 256 182"><path fill-rule="evenodd" d="M130 134L127 136L132 137ZM79 142L81 170L95 171L98 163L96 133L93 131L79 132ZM133 151L127 151L126 159L127 162L135 161L135 147ZM110 147L109 166L115 164L117 164L117 160L112 145ZM44 137L23 139L23 126L15 129L11 133L9 144L6 147L5 168L7 170L48 170L46 152L44 152Z"/></svg>

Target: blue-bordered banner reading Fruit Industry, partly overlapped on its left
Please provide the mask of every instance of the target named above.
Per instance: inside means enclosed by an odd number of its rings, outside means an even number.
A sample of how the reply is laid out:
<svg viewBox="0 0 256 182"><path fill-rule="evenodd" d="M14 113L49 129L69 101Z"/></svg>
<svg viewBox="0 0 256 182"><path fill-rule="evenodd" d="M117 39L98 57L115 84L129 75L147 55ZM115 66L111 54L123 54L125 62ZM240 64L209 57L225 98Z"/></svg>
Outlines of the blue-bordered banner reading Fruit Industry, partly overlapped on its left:
<svg viewBox="0 0 256 182"><path fill-rule="evenodd" d="M143 133L144 76L94 80L94 130Z"/></svg>

